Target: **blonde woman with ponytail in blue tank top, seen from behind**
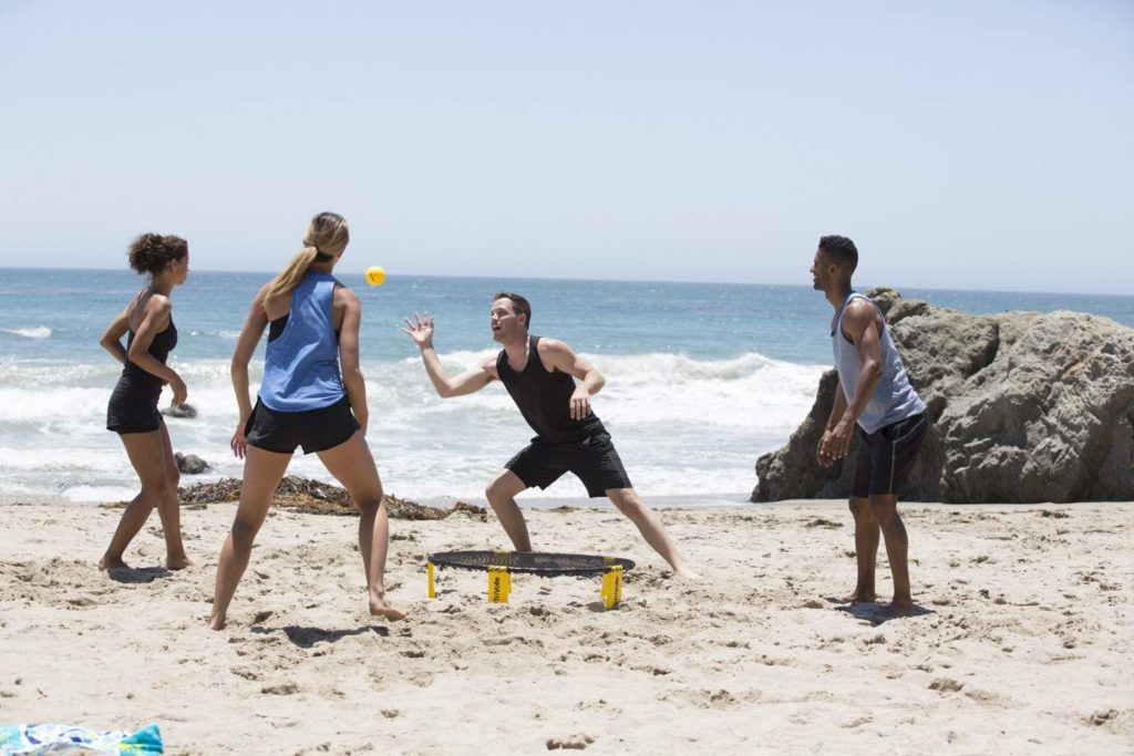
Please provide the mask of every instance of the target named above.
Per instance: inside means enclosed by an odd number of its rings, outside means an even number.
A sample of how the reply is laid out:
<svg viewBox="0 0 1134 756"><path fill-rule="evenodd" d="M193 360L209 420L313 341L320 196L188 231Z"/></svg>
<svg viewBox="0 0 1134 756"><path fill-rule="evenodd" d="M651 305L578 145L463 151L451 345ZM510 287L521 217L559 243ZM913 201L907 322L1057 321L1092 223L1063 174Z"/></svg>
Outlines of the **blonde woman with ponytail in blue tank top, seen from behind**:
<svg viewBox="0 0 1134 756"><path fill-rule="evenodd" d="M366 384L358 366L362 307L358 297L331 275L349 239L341 215L315 215L303 237L303 250L260 289L240 331L232 355L240 421L231 447L245 460L244 483L217 568L209 617L213 630L225 627L253 541L297 447L305 455L319 455L358 507L370 613L387 620L405 617L386 600L389 524L382 483L365 439ZM265 329L264 377L253 406L248 363Z"/></svg>

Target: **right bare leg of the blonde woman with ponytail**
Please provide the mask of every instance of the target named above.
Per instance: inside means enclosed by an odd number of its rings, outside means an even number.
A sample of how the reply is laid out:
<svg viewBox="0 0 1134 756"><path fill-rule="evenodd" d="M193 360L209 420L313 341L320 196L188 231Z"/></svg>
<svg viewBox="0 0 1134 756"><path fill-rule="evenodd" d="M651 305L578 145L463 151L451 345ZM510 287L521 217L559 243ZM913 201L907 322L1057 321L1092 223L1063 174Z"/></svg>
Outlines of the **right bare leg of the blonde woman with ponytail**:
<svg viewBox="0 0 1134 756"><path fill-rule="evenodd" d="M358 550L366 572L370 613L390 621L405 619L406 613L395 609L386 600L386 554L390 526L386 504L382 502L382 482L378 477L378 467L366 445L366 439L362 432L356 431L333 449L320 451L319 459L350 493L358 507Z"/></svg>

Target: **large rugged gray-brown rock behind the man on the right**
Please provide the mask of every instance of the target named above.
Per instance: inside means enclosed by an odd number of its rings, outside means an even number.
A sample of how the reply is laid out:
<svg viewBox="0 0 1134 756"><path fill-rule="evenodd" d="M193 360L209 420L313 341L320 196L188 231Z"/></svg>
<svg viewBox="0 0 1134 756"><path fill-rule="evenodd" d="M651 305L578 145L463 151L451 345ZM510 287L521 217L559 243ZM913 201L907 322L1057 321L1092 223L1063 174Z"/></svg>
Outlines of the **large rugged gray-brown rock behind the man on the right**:
<svg viewBox="0 0 1134 756"><path fill-rule="evenodd" d="M968 315L892 289L868 295L933 421L902 499L1134 500L1134 330L1067 311ZM787 447L756 461L752 501L849 495L857 439L848 461L815 461L836 385L827 372Z"/></svg>

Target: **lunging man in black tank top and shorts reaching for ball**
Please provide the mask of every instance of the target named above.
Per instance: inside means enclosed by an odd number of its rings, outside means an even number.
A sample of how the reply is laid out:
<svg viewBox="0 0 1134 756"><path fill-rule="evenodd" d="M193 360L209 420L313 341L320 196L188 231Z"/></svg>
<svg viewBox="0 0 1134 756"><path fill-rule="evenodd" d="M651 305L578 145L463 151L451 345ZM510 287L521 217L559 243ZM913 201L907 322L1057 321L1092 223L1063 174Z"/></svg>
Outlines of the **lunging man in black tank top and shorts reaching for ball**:
<svg viewBox="0 0 1134 756"><path fill-rule="evenodd" d="M433 349L433 318L414 315L403 329L417 345L433 388L442 398L474 393L500 381L536 435L488 485L484 495L516 551L531 551L527 524L516 494L532 486L547 489L564 473L574 473L591 498L606 496L634 525L674 571L696 577L674 542L637 495L610 434L591 411L591 397L606 379L564 341L530 335L532 308L524 297L500 292L490 313L492 338L503 349L473 369L450 377ZM577 383L576 383L577 379Z"/></svg>

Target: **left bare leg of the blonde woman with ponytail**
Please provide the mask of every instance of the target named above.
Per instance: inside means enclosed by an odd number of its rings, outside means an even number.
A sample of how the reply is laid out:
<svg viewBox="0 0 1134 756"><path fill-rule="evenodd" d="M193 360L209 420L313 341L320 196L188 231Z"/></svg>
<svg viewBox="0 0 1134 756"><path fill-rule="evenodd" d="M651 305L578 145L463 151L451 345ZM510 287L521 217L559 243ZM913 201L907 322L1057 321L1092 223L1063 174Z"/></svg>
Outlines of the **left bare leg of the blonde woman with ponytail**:
<svg viewBox="0 0 1134 756"><path fill-rule="evenodd" d="M244 460L244 483L240 485L240 504L232 520L232 529L220 550L220 563L217 566L217 588L213 594L212 614L209 615L209 628L220 630L228 617L228 605L236 593L236 586L248 567L252 554L252 543L260 532L260 526L268 517L268 508L272 503L272 493L280 478L287 472L291 455L280 455L256 447L248 447L248 457Z"/></svg>

